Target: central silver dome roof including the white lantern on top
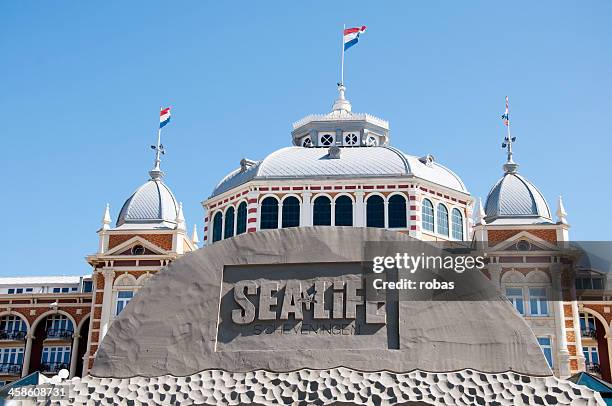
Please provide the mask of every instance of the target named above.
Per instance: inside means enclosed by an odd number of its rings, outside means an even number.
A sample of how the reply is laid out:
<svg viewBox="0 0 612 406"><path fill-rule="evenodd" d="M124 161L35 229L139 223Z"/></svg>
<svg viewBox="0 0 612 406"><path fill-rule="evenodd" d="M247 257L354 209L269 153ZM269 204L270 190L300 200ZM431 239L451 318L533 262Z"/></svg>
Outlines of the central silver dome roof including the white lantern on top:
<svg viewBox="0 0 612 406"><path fill-rule="evenodd" d="M210 198L251 180L322 180L415 177L468 193L461 179L431 155L407 155L389 145L389 123L354 113L338 84L338 99L327 114L311 114L293 124L292 147L261 161L243 159L225 176Z"/></svg>

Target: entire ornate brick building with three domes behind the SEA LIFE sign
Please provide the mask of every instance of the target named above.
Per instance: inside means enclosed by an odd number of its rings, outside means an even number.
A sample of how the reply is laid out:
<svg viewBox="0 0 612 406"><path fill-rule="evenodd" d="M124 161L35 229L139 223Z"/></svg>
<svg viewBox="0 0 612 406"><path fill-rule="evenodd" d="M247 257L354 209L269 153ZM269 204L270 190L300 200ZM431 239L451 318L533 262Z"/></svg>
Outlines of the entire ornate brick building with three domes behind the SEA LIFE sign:
<svg viewBox="0 0 612 406"><path fill-rule="evenodd" d="M612 306L588 295L604 289L605 280L590 268L576 283L569 276L577 264L559 247L570 241L563 202L553 220L542 193L518 172L513 139L503 176L477 204L433 155L394 148L389 123L354 113L345 91L340 84L331 112L293 124L291 146L260 161L242 159L214 187L202 202L204 243L265 229L352 226L484 244L487 276L524 316L554 373L566 378L587 370L610 381ZM97 252L87 256L91 277L0 280L0 381L57 370L46 360L69 363L72 376L86 374L113 319L138 290L198 248L196 228L188 236L181 204L163 181L159 152L158 145L149 179L125 201L114 226L107 205ZM55 337L56 330L64 332Z"/></svg>

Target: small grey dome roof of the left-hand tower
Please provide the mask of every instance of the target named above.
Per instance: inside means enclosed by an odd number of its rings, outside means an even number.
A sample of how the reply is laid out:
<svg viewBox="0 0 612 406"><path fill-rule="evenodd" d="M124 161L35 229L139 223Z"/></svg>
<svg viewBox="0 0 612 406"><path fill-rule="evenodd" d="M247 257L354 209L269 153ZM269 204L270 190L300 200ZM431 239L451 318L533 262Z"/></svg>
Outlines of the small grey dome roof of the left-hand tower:
<svg viewBox="0 0 612 406"><path fill-rule="evenodd" d="M150 179L125 201L117 227L175 228L178 204L161 177Z"/></svg>

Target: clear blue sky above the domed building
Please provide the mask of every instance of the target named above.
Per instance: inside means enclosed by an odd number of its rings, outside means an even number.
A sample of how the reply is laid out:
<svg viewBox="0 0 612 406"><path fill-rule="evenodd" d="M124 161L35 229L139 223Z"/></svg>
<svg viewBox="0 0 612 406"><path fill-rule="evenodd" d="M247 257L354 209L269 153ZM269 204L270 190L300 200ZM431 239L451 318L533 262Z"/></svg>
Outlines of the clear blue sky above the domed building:
<svg viewBox="0 0 612 406"><path fill-rule="evenodd" d="M575 240L608 240L612 3L1 2L0 275L80 274L104 205L147 180L160 105L166 181L188 225L242 157L289 145L329 111L340 31L353 109L392 145L432 153L475 196L501 176L510 96L520 173ZM604 207L601 207L604 206Z"/></svg>

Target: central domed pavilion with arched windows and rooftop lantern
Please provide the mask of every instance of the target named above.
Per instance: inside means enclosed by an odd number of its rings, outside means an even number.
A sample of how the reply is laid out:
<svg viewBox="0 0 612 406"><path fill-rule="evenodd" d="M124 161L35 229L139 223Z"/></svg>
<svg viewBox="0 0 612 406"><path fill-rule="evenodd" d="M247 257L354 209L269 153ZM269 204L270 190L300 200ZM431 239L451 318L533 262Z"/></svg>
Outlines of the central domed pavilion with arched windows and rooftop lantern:
<svg viewBox="0 0 612 406"><path fill-rule="evenodd" d="M263 229L382 227L424 240L463 241L474 200L432 155L390 144L389 123L353 113L338 87L328 114L293 124L293 146L243 159L202 204L205 242ZM434 215L435 214L435 215Z"/></svg>

